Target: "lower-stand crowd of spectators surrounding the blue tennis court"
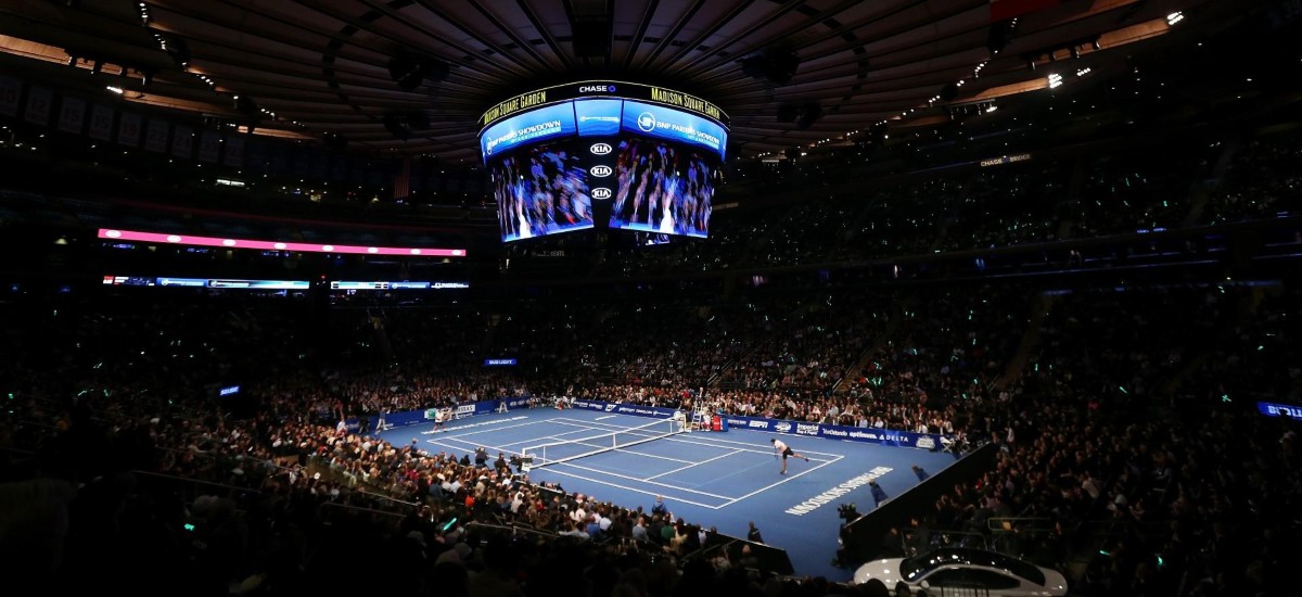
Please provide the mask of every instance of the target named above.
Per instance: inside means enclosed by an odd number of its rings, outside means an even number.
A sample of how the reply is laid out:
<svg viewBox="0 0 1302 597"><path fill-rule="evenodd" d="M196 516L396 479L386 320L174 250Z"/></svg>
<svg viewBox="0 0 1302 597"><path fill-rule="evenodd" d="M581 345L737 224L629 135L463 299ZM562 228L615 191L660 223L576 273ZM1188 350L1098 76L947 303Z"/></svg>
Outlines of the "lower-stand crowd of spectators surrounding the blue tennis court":
<svg viewBox="0 0 1302 597"><path fill-rule="evenodd" d="M46 478L10 491L53 495L42 507L69 504L66 515L12 510L10 524L65 523L53 527L53 536L44 527L12 534L46 532L44 542L34 545L59 547L16 553L13 562L94 572L66 576L70 585L91 577L181 583L185 576L198 592L234 587L249 594L324 587L322 577L341 566L349 570L342 583L359 589L410 583L401 587L431 590L447 581L443 575L469 571L466 590L480 594L482 587L470 587L493 579L512 590L547 585L521 585L523 576L564 584L561 576L548 576L559 566L555 558L581 550L586 559L579 562L605 562L611 579L631 574L658 587L644 588L652 593L685 590L673 587L689 571L661 570L663 562L717 541L706 521L535 486L508 455L500 461L488 455L491 464L480 465L470 454L389 446L336 426L345 416L542 392L672 407L704 403L741 415L992 441L1000 447L995 469L957 485L901 528L889 547L904 553L945 533L976 533L1001 550L1074 570L1079 594L1254 594L1279 583L1292 553L1281 537L1295 521L1279 516L1302 494L1294 435L1286 422L1259 418L1243 404L1258 396L1298 398L1302 374L1290 340L1299 301L1284 283L1124 292L1003 284L865 292L858 298L750 297L712 309L703 309L704 298L622 309L611 301L603 322L587 327L573 327L557 304L346 310L332 314L332 330L353 335L350 357L362 356L362 347L384 353L375 317L384 319L396 353L348 366L320 361L303 343L319 335L285 317L302 305L275 301L102 302L40 306L39 315L38 308L9 305L13 325L5 339L25 351L5 366L13 388L4 425L7 478L38 471ZM874 318L866 305L876 304L893 306L880 310L880 321L866 322ZM637 309L652 309L643 313L648 319L680 323L644 323ZM552 379L527 371L484 374L482 368L474 373L469 364L483 347L546 352L522 344L522 328L501 334L514 340L493 339L492 326L517 317L530 334L572 330L561 336L577 340L569 353L560 343L548 344L557 351L552 362L599 373ZM650 327L634 334L639 326ZM819 326L850 332L818 336L818 348L799 360L837 352L837 365L823 369L837 383L771 375L766 387L711 386L715 373L745 370L747 361L695 361L725 353L720 343L736 343L736 355L763 353L789 342L793 330ZM434 336L439 351L415 349ZM693 345L697 336L704 342ZM639 362L637 347L672 356ZM191 348L201 356L191 358ZM393 358L400 355L410 360ZM676 371L676 362L686 369ZM1009 374L1016 362L1025 365ZM798 368L786 371L793 370ZM246 379L243 391L256 398L251 405L215 401L204 388L228 375ZM35 458L23 458L33 452ZM155 488L177 478L194 480L189 494ZM460 523L449 525L452 517ZM992 531L990 520L1003 517L1013 521ZM517 531L512 537L467 520ZM187 524L194 531L185 531ZM529 531L526 540L519 529ZM661 541L654 538L656 529ZM639 541L643 532L647 541ZM568 542L552 549L555 541ZM7 554L13 545L5 544ZM124 546L154 559L126 558ZM342 554L357 550L359 559L345 566ZM763 585L766 576L745 572L746 554L724 550L717 558L708 563L716 574L703 587L730 574L754 590ZM396 579L388 572L392 562L413 562L422 574ZM458 562L456 571L444 566ZM574 577L596 570L565 566ZM694 574L704 570L693 566ZM720 575L725 568L732 572ZM664 576L668 571L674 572ZM807 579L799 587L816 587L818 594L867 590ZM1245 588L1247 593L1240 592Z"/></svg>

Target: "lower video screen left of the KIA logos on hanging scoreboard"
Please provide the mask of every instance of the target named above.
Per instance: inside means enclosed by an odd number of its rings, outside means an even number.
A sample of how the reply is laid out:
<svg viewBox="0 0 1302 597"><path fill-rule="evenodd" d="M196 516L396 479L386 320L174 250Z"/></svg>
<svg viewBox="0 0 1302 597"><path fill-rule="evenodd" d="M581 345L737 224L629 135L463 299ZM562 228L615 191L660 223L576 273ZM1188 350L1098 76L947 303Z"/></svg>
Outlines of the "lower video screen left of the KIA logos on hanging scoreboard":
<svg viewBox="0 0 1302 597"><path fill-rule="evenodd" d="M503 156L491 176L504 242L592 228L587 172L566 143Z"/></svg>

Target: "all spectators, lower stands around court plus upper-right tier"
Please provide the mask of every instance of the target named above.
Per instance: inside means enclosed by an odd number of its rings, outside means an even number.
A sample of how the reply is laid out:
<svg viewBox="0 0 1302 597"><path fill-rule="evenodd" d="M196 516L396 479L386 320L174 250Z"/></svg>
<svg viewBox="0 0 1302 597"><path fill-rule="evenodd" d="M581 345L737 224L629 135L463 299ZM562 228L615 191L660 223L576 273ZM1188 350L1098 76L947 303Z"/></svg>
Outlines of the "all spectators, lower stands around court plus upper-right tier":
<svg viewBox="0 0 1302 597"><path fill-rule="evenodd" d="M1219 224L1295 199L1292 179L1260 176L1294 143L1186 154L1174 171L1086 160L1074 179L1052 164L997 182L982 172L878 189L880 202L832 198L825 211L793 206L766 223L742 215L716 228L732 239L724 249L673 245L638 271ZM1228 156L1204 209L1189 211L1177 197ZM995 197L1006 205L980 211ZM818 233L831 223L848 226ZM625 257L594 271L628 274ZM201 293L5 304L0 335L22 349L0 369L13 506L0 555L59 574L66 589L543 594L575 579L592 594L878 589L756 574L740 549L693 559L723 541L708 521L538 486L508 455L479 463L337 426L570 396L997 446L991 471L919 508L884 554L966 537L1064 570L1077 594L1271 594L1286 581L1302 495L1295 429L1253 407L1302 399L1295 280L781 292L754 282L727 296L681 287L324 310ZM521 366L483 366L499 357ZM217 400L219 382L243 390ZM396 563L417 572L393 574Z"/></svg>

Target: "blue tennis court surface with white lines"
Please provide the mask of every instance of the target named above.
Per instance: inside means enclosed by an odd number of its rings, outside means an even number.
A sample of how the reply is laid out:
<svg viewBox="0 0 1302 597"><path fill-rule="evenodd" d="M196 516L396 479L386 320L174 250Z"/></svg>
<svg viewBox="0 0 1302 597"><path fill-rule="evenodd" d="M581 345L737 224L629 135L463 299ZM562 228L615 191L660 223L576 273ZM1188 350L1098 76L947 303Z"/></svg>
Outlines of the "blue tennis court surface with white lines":
<svg viewBox="0 0 1302 597"><path fill-rule="evenodd" d="M415 439L426 451L458 456L483 446L496 459L497 452L509 456L557 441L583 441L574 452L582 454L609 446L611 433L655 422L630 415L539 408L449 421L439 433L431 433L432 425L417 425L380 437L397 446ZM654 433L661 429L667 428L658 426ZM786 474L779 474L781 461L769 443L775 437L810 460L790 459ZM841 524L837 506L854 503L859 512L871 511L868 474L894 498L918 484L913 465L934 474L953 461L949 454L923 450L734 429L635 443L534 468L529 477L646 511L663 495L674 517L734 537L746 537L747 523L754 521L764 542L788 551L798 575L848 581L852 571L831 563Z"/></svg>

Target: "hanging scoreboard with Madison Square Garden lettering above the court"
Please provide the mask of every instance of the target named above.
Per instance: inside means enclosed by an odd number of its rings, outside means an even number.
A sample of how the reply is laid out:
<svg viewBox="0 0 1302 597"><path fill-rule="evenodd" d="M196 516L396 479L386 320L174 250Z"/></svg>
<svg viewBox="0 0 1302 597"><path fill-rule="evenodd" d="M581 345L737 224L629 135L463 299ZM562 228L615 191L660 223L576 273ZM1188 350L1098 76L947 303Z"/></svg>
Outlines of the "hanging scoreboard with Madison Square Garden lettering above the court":
<svg viewBox="0 0 1302 597"><path fill-rule="evenodd" d="M706 237L727 116L661 87L587 81L484 113L503 241L594 228Z"/></svg>

